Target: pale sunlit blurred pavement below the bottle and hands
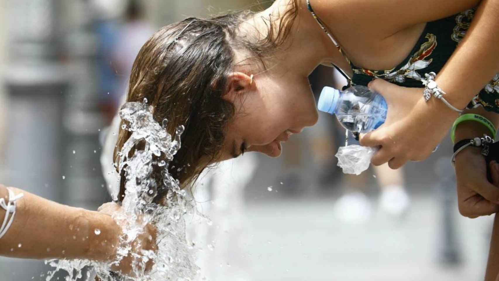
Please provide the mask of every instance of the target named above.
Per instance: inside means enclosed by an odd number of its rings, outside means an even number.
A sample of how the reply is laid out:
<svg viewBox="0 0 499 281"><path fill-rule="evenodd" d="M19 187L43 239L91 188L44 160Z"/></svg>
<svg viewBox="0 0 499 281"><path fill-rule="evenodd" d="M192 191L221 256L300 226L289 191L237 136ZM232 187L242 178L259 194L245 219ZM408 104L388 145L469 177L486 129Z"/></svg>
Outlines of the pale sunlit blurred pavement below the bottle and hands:
<svg viewBox="0 0 499 281"><path fill-rule="evenodd" d="M413 196L402 220L375 211L364 224L345 224L334 200L278 200L247 205L240 237L228 224L213 244L230 243L216 279L255 281L480 281L485 274L493 217L467 219L456 210L461 262L442 260L443 221L438 202ZM213 219L213 218L212 218ZM231 242L232 241L232 242ZM213 250L217 252L217 247ZM213 276L213 275L212 275Z"/></svg>

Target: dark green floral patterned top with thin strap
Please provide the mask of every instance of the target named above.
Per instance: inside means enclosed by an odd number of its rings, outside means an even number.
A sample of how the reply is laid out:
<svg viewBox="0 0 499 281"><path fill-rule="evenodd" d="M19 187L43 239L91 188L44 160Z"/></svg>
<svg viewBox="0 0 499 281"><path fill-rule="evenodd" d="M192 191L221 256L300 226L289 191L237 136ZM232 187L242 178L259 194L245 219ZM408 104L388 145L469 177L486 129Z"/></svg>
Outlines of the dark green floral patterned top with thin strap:
<svg viewBox="0 0 499 281"><path fill-rule="evenodd" d="M331 37L310 5L308 8L322 29ZM355 66L347 58L353 69L352 84L367 85L375 78L382 78L404 87L423 87L421 79L425 77L425 73L431 71L438 73L442 69L465 36L475 11L476 8L473 8L428 22L410 54L392 69L364 69ZM470 101L468 108L480 105L488 111L499 113L499 73Z"/></svg>

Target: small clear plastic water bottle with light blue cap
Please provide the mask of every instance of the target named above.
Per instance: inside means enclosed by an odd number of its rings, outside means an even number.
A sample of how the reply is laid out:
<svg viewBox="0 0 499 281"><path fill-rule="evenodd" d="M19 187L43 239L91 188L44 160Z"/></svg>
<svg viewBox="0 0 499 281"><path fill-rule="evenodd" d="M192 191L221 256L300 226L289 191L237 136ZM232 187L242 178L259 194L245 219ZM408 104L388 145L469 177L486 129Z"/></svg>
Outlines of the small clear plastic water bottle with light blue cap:
<svg viewBox="0 0 499 281"><path fill-rule="evenodd" d="M367 133L381 126L388 111L382 95L361 85L344 91L324 87L317 107L320 111L336 114L345 129L358 133Z"/></svg>

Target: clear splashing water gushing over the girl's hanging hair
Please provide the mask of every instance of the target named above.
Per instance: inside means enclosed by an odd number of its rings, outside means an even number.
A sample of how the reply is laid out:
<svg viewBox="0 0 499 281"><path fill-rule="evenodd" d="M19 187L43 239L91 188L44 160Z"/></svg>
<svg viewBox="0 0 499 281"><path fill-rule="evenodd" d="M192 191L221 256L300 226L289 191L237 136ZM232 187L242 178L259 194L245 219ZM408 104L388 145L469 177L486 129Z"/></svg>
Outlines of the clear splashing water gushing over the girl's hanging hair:
<svg viewBox="0 0 499 281"><path fill-rule="evenodd" d="M180 149L180 136L184 126L176 129L175 137L166 131L167 120L158 124L152 115L152 107L144 102L128 102L120 110L120 117L125 123L124 128L131 132L131 136L124 143L118 153L120 157L119 170L125 172L125 198L120 213L113 214L113 219L120 225L124 235L120 237L117 246L117 259L114 262L102 263L89 260L49 260L47 263L55 270L49 272L46 280L49 281L60 270L66 271L66 281L83 278L90 281L90 275L83 277L84 268L91 266L97 276L103 281L116 280L110 273L113 265L118 265L123 257L131 255L136 259L133 272L136 277L126 278L134 281L191 281L199 268L194 264L193 245L186 241L186 226L184 215L193 210L187 204L186 192L180 189L179 181L168 172L169 162ZM135 150L129 157L130 151L138 144L144 144L143 150ZM155 157L160 160L155 160ZM159 170L162 182L152 179L153 170ZM162 204L155 203L155 197L161 192L166 194ZM140 223L137 223L140 221ZM134 254L132 242L143 232L147 224L157 229L156 252L142 250L140 255ZM101 230L95 230L99 235ZM152 260L152 270L145 273L145 264Z"/></svg>

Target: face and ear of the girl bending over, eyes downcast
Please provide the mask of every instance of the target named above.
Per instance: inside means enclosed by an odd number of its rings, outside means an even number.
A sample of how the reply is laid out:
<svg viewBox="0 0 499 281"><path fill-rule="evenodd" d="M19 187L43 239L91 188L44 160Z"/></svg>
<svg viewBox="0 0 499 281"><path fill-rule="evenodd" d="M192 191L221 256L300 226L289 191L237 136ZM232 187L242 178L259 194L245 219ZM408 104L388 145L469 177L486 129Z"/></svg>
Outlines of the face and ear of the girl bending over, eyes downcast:
<svg viewBox="0 0 499 281"><path fill-rule="evenodd" d="M308 78L291 72L279 77L261 73L252 82L246 74L236 74L240 77L231 88L239 92L230 90L228 94L236 114L227 128L223 160L237 157L243 150L278 157L281 142L317 122Z"/></svg>

